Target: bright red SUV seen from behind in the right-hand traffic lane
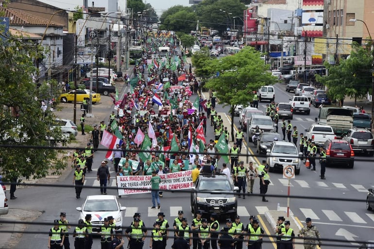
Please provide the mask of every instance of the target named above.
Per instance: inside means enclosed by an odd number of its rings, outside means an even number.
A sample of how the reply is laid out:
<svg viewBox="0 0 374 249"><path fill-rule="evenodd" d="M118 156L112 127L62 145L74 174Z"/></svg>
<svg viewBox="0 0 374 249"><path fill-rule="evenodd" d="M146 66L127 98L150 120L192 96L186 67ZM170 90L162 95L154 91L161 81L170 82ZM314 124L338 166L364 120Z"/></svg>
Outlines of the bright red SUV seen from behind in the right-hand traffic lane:
<svg viewBox="0 0 374 249"><path fill-rule="evenodd" d="M346 140L327 139L323 145L326 149L326 166L332 164L345 164L353 168L355 163L355 152Z"/></svg>

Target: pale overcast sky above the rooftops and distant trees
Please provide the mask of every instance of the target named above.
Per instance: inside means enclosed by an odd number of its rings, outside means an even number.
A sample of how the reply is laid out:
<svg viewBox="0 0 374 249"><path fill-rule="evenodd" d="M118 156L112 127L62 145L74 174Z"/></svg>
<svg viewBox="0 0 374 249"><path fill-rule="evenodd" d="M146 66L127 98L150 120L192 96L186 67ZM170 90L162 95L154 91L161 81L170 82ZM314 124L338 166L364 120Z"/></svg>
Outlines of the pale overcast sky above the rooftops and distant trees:
<svg viewBox="0 0 374 249"><path fill-rule="evenodd" d="M56 6L61 9L71 9L73 10L77 5L83 5L83 0L39 0L47 4ZM88 4L91 5L92 0L88 0ZM100 0L94 0L94 2L100 2ZM157 15L160 16L163 11L169 9L174 5L185 5L188 4L188 0L143 0L144 3L150 3ZM99 6L98 4L95 4Z"/></svg>

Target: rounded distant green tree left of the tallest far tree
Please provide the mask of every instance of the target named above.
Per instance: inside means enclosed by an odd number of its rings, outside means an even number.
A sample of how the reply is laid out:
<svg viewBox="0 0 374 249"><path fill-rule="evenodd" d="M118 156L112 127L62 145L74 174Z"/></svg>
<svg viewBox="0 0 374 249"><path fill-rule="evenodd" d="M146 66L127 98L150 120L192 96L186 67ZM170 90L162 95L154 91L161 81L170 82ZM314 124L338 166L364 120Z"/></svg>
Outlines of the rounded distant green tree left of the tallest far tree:
<svg viewBox="0 0 374 249"><path fill-rule="evenodd" d="M196 22L196 14L190 9L184 9L166 17L161 22L160 29L190 33L191 30L196 30Z"/></svg>

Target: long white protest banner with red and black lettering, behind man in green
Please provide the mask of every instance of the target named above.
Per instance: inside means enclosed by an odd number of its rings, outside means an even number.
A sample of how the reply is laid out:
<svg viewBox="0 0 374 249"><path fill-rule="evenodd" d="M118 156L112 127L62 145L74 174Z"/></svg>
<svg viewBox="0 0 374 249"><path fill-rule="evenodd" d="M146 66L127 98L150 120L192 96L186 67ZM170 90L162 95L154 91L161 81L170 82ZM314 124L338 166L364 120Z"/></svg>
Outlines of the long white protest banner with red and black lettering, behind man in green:
<svg viewBox="0 0 374 249"><path fill-rule="evenodd" d="M160 190L189 189L193 186L191 171L162 174ZM151 193L152 176L117 176L118 195Z"/></svg>

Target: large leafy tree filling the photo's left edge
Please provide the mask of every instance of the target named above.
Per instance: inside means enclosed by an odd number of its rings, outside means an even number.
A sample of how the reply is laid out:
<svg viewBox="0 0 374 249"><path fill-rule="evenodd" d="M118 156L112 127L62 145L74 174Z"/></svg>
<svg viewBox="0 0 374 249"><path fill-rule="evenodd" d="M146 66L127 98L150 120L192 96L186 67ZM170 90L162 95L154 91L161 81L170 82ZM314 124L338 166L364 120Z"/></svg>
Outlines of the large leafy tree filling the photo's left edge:
<svg viewBox="0 0 374 249"><path fill-rule="evenodd" d="M19 37L0 39L0 174L4 181L41 178L65 168L59 159L62 151L48 149L51 141L62 138L61 131L51 129L55 116L49 108L45 113L41 109L41 100L59 94L54 92L58 85L51 81L37 87L32 80L33 58L41 52L40 45L29 46Z"/></svg>

